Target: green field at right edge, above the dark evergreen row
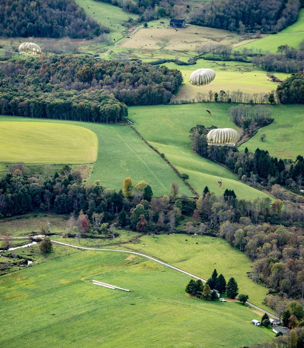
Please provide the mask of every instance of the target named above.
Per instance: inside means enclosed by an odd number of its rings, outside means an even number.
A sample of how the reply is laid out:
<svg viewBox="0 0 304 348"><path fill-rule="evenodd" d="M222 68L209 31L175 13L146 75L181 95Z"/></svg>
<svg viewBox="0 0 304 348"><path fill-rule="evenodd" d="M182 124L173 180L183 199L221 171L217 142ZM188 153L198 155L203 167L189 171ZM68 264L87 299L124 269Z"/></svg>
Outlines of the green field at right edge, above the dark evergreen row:
<svg viewBox="0 0 304 348"><path fill-rule="evenodd" d="M244 151L245 147L252 152L259 148L268 150L272 156L295 160L297 155L304 153L301 141L304 132L303 105L274 105L271 109L272 124L260 128L256 135L240 146L240 151ZM266 134L263 142L260 141L261 134Z"/></svg>

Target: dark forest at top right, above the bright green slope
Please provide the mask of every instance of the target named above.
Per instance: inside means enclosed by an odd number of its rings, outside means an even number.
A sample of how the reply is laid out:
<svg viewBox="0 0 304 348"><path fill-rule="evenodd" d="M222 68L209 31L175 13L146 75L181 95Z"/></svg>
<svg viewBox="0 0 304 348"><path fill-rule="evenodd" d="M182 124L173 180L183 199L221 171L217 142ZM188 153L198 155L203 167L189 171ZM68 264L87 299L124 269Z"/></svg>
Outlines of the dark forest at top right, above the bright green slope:
<svg viewBox="0 0 304 348"><path fill-rule="evenodd" d="M299 0L206 1L189 16L190 24L219 29L276 33L296 22Z"/></svg>

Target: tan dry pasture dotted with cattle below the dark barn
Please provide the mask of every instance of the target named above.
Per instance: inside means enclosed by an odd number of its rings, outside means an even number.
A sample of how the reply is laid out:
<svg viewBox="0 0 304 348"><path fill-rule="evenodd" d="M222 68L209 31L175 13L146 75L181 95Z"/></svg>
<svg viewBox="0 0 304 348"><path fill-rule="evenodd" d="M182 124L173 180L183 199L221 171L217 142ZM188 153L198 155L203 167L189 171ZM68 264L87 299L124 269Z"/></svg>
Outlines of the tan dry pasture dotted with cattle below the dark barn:
<svg viewBox="0 0 304 348"><path fill-rule="evenodd" d="M160 19L162 21L162 19ZM194 52L195 46L203 45L215 40L223 45L236 44L243 41L242 36L236 32L214 29L202 26L186 26L185 28L169 27L169 21L165 25L159 24L160 21L149 22L148 28L139 29L132 39L124 41L120 47L161 50L159 53L166 54L166 50ZM151 27L151 23L154 23ZM161 48L161 43L164 45Z"/></svg>

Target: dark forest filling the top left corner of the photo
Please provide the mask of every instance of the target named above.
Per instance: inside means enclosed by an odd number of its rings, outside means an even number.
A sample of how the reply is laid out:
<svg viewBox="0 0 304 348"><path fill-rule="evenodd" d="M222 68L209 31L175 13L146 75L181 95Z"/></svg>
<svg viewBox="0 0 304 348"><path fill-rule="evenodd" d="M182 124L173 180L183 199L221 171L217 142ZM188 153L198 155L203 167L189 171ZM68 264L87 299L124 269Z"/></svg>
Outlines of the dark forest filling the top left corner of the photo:
<svg viewBox="0 0 304 348"><path fill-rule="evenodd" d="M74 0L4 0L0 3L0 36L87 38L99 24Z"/></svg>

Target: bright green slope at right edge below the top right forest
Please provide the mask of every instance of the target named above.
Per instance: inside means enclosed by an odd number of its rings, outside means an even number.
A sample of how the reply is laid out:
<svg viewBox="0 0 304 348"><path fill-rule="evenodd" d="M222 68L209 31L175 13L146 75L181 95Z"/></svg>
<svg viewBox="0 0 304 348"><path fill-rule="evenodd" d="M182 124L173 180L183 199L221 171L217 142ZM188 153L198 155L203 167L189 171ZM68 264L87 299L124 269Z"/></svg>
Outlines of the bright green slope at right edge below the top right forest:
<svg viewBox="0 0 304 348"><path fill-rule="evenodd" d="M271 53L276 53L278 46L288 45L295 48L299 47L300 42L304 39L304 8L299 11L299 18L296 23L291 24L278 34L267 35L263 39L258 39L248 44L237 47L240 49L243 47L262 49L264 52L267 50Z"/></svg>

